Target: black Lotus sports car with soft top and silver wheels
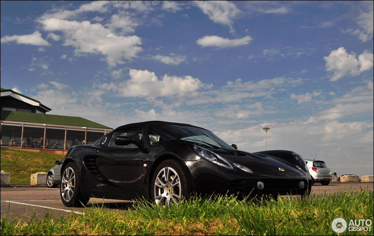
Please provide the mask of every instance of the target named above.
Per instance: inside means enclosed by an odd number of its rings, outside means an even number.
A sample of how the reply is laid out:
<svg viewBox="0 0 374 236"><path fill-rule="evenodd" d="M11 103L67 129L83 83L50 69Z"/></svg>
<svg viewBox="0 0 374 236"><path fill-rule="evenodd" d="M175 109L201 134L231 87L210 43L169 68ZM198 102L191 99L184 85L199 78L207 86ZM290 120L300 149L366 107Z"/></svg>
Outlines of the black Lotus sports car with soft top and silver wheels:
<svg viewBox="0 0 374 236"><path fill-rule="evenodd" d="M295 152L243 152L204 128L164 121L123 125L93 145L72 146L61 170L67 207L90 197L168 205L192 193L300 199L311 190Z"/></svg>

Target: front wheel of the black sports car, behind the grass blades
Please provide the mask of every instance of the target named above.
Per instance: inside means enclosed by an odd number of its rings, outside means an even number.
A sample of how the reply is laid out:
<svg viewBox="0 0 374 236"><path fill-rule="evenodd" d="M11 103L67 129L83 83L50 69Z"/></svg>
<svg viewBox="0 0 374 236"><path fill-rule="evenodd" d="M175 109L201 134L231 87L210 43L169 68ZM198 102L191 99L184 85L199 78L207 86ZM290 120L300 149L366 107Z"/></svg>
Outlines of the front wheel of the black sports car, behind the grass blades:
<svg viewBox="0 0 374 236"><path fill-rule="evenodd" d="M151 201L156 204L179 205L181 199L190 196L191 186L191 180L180 162L172 159L163 161L153 174Z"/></svg>

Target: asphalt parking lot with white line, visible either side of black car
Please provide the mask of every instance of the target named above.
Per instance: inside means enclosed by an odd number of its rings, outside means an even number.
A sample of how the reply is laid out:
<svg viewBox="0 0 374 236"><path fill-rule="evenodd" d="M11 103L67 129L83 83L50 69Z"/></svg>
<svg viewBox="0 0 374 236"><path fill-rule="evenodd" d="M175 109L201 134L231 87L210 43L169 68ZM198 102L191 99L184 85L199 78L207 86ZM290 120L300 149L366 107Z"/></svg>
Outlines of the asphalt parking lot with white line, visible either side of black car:
<svg viewBox="0 0 374 236"><path fill-rule="evenodd" d="M369 183L330 183L323 186L315 183L312 186L312 196L318 198L324 194L342 193L348 191L361 191L361 189L373 190L373 182ZM132 201L121 201L111 199L91 198L86 208L65 207L60 198L59 186L50 189L46 186L10 186L1 188L1 217L8 215L8 220L19 218L28 221L34 215L37 218L44 218L49 213L52 218L60 215L70 215L71 212L80 215L85 214L87 209L102 207L105 210L126 211L134 206Z"/></svg>

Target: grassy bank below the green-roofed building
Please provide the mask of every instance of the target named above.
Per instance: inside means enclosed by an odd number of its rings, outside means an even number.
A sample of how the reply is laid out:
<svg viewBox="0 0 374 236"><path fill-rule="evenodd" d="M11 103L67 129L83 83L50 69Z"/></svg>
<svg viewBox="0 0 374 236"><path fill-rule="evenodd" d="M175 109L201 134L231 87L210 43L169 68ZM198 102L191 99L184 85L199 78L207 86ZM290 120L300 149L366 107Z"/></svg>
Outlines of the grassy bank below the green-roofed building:
<svg viewBox="0 0 374 236"><path fill-rule="evenodd" d="M31 174L48 172L64 155L1 148L0 169L10 173L10 183L30 183Z"/></svg>

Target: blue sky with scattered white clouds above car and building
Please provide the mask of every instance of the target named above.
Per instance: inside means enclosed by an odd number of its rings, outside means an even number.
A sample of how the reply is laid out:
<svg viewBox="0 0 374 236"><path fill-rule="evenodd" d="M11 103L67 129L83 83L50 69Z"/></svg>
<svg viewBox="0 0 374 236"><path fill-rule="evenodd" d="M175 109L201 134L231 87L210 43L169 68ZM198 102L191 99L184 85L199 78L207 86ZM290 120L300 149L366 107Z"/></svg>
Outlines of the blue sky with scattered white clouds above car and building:
<svg viewBox="0 0 374 236"><path fill-rule="evenodd" d="M1 87L49 114L373 175L373 1L1 1L0 34Z"/></svg>

